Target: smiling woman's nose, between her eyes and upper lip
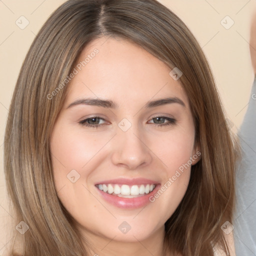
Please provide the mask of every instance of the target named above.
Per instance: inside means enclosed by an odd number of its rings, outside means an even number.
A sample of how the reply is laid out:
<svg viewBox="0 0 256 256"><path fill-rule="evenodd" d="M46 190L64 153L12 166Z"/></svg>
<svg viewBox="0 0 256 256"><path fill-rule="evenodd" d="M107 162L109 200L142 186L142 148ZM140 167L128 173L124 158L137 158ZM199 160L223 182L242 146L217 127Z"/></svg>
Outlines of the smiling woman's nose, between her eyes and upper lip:
<svg viewBox="0 0 256 256"><path fill-rule="evenodd" d="M119 129L112 146L112 163L126 169L136 169L152 161L145 135L132 127L133 125L127 131Z"/></svg>

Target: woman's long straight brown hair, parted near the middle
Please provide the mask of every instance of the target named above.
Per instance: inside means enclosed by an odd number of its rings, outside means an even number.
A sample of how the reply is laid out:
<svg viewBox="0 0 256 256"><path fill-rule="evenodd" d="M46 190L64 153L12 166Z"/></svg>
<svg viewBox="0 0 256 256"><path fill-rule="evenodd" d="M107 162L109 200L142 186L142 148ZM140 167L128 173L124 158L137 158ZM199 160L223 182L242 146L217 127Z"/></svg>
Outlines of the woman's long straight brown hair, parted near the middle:
<svg viewBox="0 0 256 256"><path fill-rule="evenodd" d="M187 191L165 223L165 245L183 256L213 256L212 246L217 244L227 254L220 227L226 220L232 222L233 140L199 44L186 25L156 0L68 0L48 18L30 46L4 138L8 194L17 223L22 220L29 226L18 234L23 238L21 254L86 255L72 217L57 197L49 139L67 93L63 81L81 50L101 36L135 42L170 70L178 67L183 72L179 81L189 98L201 159L191 167ZM11 255L16 255L14 249Z"/></svg>

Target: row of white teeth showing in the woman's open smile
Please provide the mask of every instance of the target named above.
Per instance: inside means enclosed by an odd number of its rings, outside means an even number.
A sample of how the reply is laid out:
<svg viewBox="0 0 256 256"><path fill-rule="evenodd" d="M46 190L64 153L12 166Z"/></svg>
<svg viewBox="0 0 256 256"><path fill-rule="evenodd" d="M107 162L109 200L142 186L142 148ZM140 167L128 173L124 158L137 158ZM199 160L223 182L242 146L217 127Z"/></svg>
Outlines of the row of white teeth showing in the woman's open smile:
<svg viewBox="0 0 256 256"><path fill-rule="evenodd" d="M134 198L144 196L155 188L156 184L140 184L140 185L127 185L127 184L96 184L99 190L123 197L123 198Z"/></svg>

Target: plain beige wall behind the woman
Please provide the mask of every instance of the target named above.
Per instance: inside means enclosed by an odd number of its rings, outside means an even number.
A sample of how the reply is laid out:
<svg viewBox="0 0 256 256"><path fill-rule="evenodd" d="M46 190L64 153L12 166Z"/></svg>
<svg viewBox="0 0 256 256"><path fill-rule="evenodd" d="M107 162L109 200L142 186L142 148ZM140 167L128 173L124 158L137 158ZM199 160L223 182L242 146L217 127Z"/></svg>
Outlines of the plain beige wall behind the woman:
<svg viewBox="0 0 256 256"><path fill-rule="evenodd" d="M239 127L247 109L253 72L249 55L249 24L256 0L159 0L173 10L199 41L213 70L218 90L233 122ZM3 135L11 95L25 54L39 28L64 0L0 0L0 255L15 228L11 219L3 175ZM20 29L15 21L25 16ZM228 15L234 24L220 23ZM230 22L224 19L226 25ZM14 229L15 230L15 229Z"/></svg>

